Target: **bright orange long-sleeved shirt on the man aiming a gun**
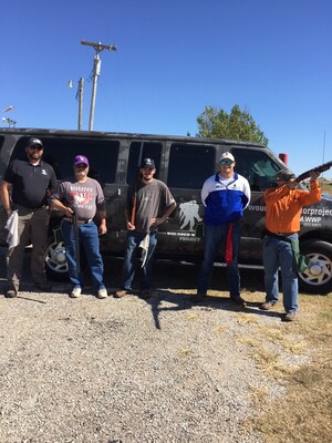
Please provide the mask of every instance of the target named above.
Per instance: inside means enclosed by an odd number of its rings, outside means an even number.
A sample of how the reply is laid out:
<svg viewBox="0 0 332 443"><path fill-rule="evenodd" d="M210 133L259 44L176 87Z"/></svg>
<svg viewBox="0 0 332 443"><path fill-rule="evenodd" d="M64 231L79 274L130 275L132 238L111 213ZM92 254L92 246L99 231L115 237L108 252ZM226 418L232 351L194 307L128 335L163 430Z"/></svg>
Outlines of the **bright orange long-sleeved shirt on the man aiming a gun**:
<svg viewBox="0 0 332 443"><path fill-rule="evenodd" d="M298 233L303 206L320 202L319 182L310 182L310 192L289 189L287 185L264 193L266 227L270 233Z"/></svg>

